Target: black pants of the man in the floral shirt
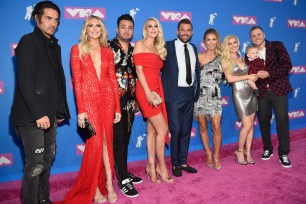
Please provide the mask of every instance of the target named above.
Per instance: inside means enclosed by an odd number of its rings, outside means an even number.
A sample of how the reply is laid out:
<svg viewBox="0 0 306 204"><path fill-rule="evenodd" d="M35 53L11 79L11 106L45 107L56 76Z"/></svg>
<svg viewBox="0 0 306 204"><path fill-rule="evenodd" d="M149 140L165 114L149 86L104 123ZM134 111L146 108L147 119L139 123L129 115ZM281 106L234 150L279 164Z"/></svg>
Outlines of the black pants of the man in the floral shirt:
<svg viewBox="0 0 306 204"><path fill-rule="evenodd" d="M121 120L114 124L113 152L118 181L127 178L127 156L134 112L121 109Z"/></svg>

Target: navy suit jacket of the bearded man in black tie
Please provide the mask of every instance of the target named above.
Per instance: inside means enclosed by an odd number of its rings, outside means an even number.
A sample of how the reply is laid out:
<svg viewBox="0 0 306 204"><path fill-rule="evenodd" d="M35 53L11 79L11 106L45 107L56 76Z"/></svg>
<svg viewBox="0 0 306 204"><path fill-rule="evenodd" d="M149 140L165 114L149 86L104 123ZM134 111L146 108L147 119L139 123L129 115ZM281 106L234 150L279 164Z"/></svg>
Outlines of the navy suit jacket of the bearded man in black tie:
<svg viewBox="0 0 306 204"><path fill-rule="evenodd" d="M175 39L176 40L176 39ZM166 42L167 57L164 62L164 67L162 69L162 83L165 94L166 102L173 102L177 96L178 90L178 64L175 52L175 40ZM198 59L198 51L194 44L190 43L193 47L196 65L195 65L195 77L193 82L194 88L194 101L196 102L199 98L200 93L200 64Z"/></svg>

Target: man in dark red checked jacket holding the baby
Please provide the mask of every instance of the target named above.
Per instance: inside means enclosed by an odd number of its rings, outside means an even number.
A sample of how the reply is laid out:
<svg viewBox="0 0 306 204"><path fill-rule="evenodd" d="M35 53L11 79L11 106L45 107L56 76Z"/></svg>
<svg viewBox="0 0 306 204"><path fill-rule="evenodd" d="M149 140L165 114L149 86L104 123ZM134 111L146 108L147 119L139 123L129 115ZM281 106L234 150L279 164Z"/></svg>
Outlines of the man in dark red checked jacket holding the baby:
<svg viewBox="0 0 306 204"><path fill-rule="evenodd" d="M279 161L285 168L291 167L289 153L289 117L288 96L292 91L289 82L289 72L292 68L290 56L282 42L268 41L260 26L250 30L252 43L259 49L259 57L264 59L266 70L257 73L259 80L256 85L259 89L258 121L264 153L261 158L268 160L273 155L271 142L270 120L272 108L275 112L276 130L279 141Z"/></svg>

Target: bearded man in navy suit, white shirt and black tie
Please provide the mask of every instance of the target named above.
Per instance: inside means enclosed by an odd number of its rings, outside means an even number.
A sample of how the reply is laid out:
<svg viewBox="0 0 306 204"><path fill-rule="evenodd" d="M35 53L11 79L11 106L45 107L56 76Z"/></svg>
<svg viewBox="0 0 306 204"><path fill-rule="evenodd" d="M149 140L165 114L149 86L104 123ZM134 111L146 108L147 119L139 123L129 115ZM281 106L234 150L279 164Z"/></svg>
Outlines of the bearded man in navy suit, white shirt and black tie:
<svg viewBox="0 0 306 204"><path fill-rule="evenodd" d="M182 176L181 170L188 173L197 172L187 164L193 105L198 100L200 89L197 48L189 42L193 34L192 29L189 19L182 19L178 23L178 38L166 42L168 55L162 71L171 133L172 174L176 177Z"/></svg>

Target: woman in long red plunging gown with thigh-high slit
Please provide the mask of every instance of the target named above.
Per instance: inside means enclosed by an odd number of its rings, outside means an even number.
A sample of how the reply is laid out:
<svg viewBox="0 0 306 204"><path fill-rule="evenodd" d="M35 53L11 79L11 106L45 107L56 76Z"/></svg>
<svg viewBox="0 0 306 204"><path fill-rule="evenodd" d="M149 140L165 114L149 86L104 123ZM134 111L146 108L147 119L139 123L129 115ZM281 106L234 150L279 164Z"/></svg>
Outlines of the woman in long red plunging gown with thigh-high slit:
<svg viewBox="0 0 306 204"><path fill-rule="evenodd" d="M117 196L112 184L114 175L113 123L119 122L120 104L114 57L107 48L107 30L96 16L84 23L80 43L71 49L71 70L78 110L78 125L87 118L96 135L86 140L81 169L64 203L91 204ZM114 119L115 118L115 119Z"/></svg>

